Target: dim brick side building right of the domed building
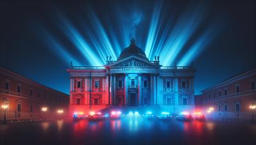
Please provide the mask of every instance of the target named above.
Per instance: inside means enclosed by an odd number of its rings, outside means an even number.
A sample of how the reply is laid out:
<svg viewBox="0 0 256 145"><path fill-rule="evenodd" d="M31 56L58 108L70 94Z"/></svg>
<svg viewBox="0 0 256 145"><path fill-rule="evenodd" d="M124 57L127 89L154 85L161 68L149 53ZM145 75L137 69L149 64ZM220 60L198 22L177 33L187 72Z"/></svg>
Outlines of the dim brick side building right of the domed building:
<svg viewBox="0 0 256 145"><path fill-rule="evenodd" d="M202 109L214 107L215 120L252 120L256 105L256 69L252 69L202 90ZM255 112L255 111L254 111Z"/></svg>

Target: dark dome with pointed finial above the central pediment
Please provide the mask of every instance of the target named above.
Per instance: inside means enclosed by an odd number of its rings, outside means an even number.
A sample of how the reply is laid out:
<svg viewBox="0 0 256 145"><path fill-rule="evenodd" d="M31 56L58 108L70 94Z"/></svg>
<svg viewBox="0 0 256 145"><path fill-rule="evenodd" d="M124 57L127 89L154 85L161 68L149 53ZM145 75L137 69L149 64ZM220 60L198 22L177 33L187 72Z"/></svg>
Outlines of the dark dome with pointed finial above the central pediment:
<svg viewBox="0 0 256 145"><path fill-rule="evenodd" d="M148 58L145 55L145 52L141 50L138 46L135 45L134 38L131 39L131 44L129 47L125 48L120 56L118 57L117 61L125 59L127 57L130 57L131 55L134 55L136 57L140 57L141 59L148 60Z"/></svg>

